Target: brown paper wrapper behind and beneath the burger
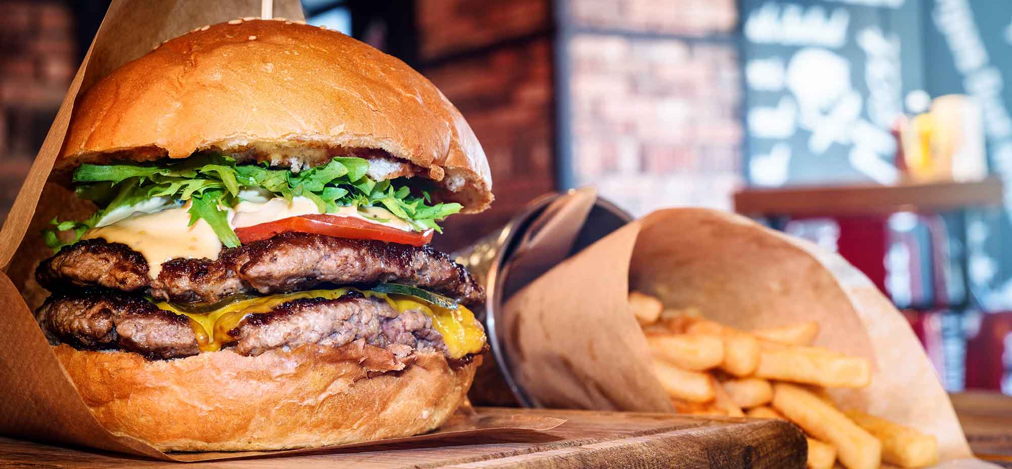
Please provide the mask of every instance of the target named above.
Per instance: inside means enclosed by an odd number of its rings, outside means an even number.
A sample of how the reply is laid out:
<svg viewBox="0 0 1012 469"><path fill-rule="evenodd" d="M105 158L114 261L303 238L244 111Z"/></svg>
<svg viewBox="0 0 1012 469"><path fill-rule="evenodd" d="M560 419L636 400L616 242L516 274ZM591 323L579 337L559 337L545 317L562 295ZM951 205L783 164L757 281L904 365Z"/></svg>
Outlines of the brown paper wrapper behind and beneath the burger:
<svg viewBox="0 0 1012 469"><path fill-rule="evenodd" d="M79 91L120 65L137 59L163 40L194 27L258 16L259 0L114 0L81 64L41 150L0 231L0 435L147 456L166 461L201 461L321 452L334 448L390 443L438 441L446 438L502 437L558 427L551 417L489 417L458 411L438 431L422 436L307 450L167 455L134 438L113 435L94 418L52 352L31 310L47 293L32 279L38 262L52 255L40 230L56 215L61 219L90 214L90 202L48 180L63 146ZM303 19L298 0L274 0L274 14ZM437 443L433 443L437 444Z"/></svg>

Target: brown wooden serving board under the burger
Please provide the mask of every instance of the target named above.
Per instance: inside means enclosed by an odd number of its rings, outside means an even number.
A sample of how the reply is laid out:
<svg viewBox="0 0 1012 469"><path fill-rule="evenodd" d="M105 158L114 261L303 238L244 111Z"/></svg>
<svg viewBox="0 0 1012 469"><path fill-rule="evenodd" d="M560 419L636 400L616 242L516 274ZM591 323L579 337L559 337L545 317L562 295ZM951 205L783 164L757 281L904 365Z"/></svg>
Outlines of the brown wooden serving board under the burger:
<svg viewBox="0 0 1012 469"><path fill-rule="evenodd" d="M0 466L33 468L804 468L806 442L777 420L592 410L479 408L566 418L523 438L441 440L291 457L166 463L0 438ZM184 466L178 466L184 464Z"/></svg>

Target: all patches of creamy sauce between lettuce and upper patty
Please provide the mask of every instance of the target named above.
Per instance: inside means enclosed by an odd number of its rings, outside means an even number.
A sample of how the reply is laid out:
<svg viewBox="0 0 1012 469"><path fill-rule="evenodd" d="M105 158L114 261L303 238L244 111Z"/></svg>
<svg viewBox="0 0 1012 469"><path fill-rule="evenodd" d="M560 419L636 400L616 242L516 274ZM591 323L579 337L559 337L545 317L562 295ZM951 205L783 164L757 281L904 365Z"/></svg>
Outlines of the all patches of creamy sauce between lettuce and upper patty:
<svg viewBox="0 0 1012 469"><path fill-rule="evenodd" d="M148 274L157 278L162 263L175 258L218 259L222 242L202 218L187 226L190 204L169 208L151 214L141 214L121 219L107 226L96 227L82 237L85 240L101 238L109 243L122 243L141 253L148 261ZM383 207L338 207L337 216L359 218L371 223L411 231L411 223L394 216ZM306 197L293 197L291 202L277 197L266 202L242 201L228 209L229 224L234 228L252 226L291 216L320 213L316 203Z"/></svg>

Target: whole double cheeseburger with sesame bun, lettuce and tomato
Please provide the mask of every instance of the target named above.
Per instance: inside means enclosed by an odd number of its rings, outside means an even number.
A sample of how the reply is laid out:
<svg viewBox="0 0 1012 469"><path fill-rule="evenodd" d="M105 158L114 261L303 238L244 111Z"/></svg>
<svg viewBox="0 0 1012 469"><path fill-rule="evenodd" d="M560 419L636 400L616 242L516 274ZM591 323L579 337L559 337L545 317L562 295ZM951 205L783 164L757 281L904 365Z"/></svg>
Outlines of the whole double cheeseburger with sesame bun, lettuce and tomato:
<svg viewBox="0 0 1012 469"><path fill-rule="evenodd" d="M484 291L428 244L491 203L404 63L275 18L171 39L81 96L36 319L95 417L162 451L398 438L463 401Z"/></svg>

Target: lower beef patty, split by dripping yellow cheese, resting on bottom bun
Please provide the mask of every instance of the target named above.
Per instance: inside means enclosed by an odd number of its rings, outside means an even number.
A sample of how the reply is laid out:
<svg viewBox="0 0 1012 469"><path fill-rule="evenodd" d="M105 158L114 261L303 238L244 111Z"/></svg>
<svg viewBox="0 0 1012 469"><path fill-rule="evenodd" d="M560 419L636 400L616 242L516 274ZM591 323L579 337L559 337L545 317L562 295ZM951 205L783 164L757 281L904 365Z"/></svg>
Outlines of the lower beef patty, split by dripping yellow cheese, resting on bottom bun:
<svg viewBox="0 0 1012 469"><path fill-rule="evenodd" d="M54 295L38 308L35 318L51 342L78 349L119 349L149 359L199 353L186 316L118 292ZM428 315L416 310L398 314L386 301L357 292L337 299L296 299L269 312L248 314L229 336L234 341L225 348L249 356L304 344L341 347L356 340L387 349L398 358L414 350L446 353L442 336L432 329Z"/></svg>

